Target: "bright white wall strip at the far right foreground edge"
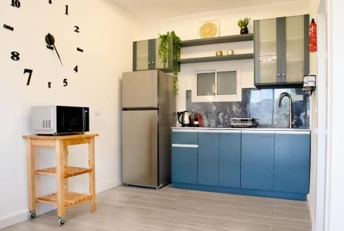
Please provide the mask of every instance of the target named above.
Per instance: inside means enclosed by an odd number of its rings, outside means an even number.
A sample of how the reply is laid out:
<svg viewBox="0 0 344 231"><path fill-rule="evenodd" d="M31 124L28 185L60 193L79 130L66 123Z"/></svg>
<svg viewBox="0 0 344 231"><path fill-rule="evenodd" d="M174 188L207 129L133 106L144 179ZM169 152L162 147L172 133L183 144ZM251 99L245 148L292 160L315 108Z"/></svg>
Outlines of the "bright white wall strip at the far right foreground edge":
<svg viewBox="0 0 344 231"><path fill-rule="evenodd" d="M326 181L325 230L343 230L344 208L344 155L343 155L343 85L344 85L344 32L338 30L343 18L344 2L327 0L328 30L328 156Z"/></svg>

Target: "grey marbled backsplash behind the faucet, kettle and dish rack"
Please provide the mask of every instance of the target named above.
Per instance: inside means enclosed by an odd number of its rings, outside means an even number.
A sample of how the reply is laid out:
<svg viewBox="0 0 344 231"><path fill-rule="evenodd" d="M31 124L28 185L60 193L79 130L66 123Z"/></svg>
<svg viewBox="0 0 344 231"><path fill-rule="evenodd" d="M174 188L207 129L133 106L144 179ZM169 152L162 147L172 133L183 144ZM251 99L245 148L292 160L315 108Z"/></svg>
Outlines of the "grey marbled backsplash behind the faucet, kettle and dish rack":
<svg viewBox="0 0 344 231"><path fill-rule="evenodd" d="M310 127L308 97L301 88L290 89L242 89L241 102L191 102L192 92L186 91L186 110L204 115L204 126L230 126L230 118L256 118L259 127L287 128L289 122L289 101L283 98L282 107L276 106L282 92L292 96L292 109L296 117L295 127Z"/></svg>

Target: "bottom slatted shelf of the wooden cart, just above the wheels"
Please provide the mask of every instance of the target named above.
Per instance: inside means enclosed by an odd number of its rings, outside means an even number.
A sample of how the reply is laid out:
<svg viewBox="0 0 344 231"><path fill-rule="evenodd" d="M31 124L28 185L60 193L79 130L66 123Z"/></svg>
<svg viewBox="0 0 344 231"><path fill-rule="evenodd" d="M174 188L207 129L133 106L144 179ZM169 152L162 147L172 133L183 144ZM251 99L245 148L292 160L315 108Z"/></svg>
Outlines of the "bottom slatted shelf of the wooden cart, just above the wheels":
<svg viewBox="0 0 344 231"><path fill-rule="evenodd" d="M92 199L92 195L81 194L78 192L65 192L65 208L70 206L74 206L78 203L82 203L83 201L89 201ZM36 199L36 202L39 203L50 203L57 205L57 198L56 193L52 193L50 195L46 195L43 197L39 197Z"/></svg>

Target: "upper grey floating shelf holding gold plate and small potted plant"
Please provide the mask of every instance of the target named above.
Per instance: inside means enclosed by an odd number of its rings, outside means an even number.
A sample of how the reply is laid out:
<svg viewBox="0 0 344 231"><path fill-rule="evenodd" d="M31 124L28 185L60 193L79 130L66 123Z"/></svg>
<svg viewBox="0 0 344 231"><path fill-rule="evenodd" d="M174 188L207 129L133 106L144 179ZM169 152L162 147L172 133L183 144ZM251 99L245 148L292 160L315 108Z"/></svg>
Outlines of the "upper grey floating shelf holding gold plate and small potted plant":
<svg viewBox="0 0 344 231"><path fill-rule="evenodd" d="M210 39L193 39L182 41L180 47L194 47L197 45L211 45L219 43L237 43L237 42L246 42L253 41L253 34L236 34L230 36L221 36Z"/></svg>

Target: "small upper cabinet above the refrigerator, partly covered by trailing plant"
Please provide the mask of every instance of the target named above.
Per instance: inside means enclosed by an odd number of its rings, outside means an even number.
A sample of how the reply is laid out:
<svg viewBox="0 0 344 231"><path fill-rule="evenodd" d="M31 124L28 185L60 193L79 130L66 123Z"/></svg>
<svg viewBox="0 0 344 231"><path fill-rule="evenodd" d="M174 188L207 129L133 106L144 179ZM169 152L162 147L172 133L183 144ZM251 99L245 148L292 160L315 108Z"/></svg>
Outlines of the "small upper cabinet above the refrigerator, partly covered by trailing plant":
<svg viewBox="0 0 344 231"><path fill-rule="evenodd" d="M166 68L159 56L160 39L149 39L133 42L133 72L149 69L160 69L164 72L172 69L172 45Z"/></svg>

